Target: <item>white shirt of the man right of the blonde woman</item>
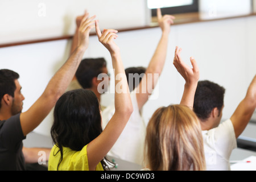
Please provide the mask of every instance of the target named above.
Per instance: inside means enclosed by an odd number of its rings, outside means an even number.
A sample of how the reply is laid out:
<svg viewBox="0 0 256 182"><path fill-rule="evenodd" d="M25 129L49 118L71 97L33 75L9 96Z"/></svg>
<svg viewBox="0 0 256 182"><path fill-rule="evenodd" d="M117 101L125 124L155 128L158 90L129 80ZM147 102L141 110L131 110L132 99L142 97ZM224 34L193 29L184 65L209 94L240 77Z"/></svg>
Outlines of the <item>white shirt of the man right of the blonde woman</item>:
<svg viewBox="0 0 256 182"><path fill-rule="evenodd" d="M207 171L230 171L229 158L232 150L237 148L232 121L228 119L202 134Z"/></svg>

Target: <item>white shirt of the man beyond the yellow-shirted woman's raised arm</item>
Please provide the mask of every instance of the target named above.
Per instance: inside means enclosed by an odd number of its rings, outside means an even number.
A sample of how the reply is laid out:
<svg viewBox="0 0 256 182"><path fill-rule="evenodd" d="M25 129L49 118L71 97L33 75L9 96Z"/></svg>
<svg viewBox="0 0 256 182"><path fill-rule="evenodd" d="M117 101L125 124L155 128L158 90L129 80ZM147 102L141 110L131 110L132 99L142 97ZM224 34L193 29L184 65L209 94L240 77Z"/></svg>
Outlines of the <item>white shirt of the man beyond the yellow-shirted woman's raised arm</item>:
<svg viewBox="0 0 256 182"><path fill-rule="evenodd" d="M108 155L142 165L146 125L138 108L135 90L130 93L133 113ZM125 104L125 103L124 103ZM115 112L114 101L102 111L102 129Z"/></svg>

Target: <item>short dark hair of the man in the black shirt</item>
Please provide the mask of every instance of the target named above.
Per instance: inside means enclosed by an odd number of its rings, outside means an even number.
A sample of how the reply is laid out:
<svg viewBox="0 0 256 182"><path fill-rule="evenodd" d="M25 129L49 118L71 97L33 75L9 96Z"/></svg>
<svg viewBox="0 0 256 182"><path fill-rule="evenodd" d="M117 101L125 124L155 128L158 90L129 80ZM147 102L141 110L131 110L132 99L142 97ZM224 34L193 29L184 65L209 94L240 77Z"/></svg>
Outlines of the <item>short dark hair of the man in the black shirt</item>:
<svg viewBox="0 0 256 182"><path fill-rule="evenodd" d="M9 69L0 69L0 98L2 100L5 94L14 97L16 89L15 80L19 78L19 74ZM1 108L1 102L0 102Z"/></svg>

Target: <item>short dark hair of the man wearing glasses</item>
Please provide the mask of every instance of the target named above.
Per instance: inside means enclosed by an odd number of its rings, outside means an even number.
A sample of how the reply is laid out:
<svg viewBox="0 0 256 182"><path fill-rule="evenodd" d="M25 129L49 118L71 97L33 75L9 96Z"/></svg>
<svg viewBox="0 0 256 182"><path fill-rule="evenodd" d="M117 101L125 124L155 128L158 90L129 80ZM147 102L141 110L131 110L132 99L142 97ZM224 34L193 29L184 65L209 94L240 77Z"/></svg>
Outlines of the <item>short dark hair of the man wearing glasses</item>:
<svg viewBox="0 0 256 182"><path fill-rule="evenodd" d="M76 78L84 89L92 87L92 79L102 73L102 68L106 67L104 58L83 59L77 68Z"/></svg>

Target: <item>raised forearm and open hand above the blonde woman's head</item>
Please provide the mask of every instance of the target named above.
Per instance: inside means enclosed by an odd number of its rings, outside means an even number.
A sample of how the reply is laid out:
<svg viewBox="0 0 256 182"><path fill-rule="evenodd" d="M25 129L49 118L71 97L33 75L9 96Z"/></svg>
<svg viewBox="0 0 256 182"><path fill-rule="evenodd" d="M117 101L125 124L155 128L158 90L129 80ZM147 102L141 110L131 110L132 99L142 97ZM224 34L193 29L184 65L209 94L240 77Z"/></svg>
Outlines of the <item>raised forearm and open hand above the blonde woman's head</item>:
<svg viewBox="0 0 256 182"><path fill-rule="evenodd" d="M190 58L193 68L189 68L187 64L181 59L181 48L176 47L174 56L174 66L180 75L185 80L184 92L181 98L180 104L185 105L193 109L193 102L196 93L197 82L199 80L199 68L197 67L196 60L193 57Z"/></svg>

